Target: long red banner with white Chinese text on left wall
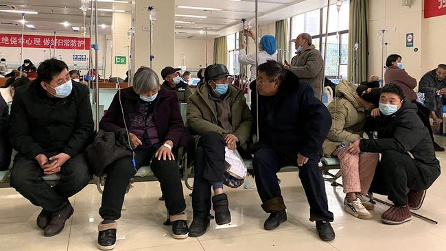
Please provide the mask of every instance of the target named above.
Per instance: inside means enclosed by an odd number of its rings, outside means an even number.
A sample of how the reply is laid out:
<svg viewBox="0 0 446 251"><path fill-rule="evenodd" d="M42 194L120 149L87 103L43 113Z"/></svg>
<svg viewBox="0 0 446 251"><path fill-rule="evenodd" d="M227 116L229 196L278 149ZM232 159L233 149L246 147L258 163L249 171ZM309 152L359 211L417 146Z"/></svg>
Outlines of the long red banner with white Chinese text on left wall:
<svg viewBox="0 0 446 251"><path fill-rule="evenodd" d="M0 34L0 47L21 47L21 34ZM23 47L54 48L54 36L23 35ZM90 49L90 38L56 36L56 49Z"/></svg>

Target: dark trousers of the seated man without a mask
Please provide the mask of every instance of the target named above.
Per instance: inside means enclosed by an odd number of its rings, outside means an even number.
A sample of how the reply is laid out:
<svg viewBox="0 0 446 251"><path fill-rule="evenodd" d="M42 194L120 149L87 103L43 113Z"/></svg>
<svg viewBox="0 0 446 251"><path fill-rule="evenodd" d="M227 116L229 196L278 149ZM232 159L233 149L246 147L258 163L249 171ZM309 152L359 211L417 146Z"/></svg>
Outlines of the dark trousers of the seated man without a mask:
<svg viewBox="0 0 446 251"><path fill-rule="evenodd" d="M297 156L296 156L297 161ZM318 167L319 160L309 159L307 164L299 168L299 178L309 203L309 220L327 220L333 222L333 213L328 209L327 194L322 172ZM285 209L281 189L277 180L277 172L286 165L296 165L285 160L271 147L262 147L254 154L253 166L255 184L262 208L266 213Z"/></svg>

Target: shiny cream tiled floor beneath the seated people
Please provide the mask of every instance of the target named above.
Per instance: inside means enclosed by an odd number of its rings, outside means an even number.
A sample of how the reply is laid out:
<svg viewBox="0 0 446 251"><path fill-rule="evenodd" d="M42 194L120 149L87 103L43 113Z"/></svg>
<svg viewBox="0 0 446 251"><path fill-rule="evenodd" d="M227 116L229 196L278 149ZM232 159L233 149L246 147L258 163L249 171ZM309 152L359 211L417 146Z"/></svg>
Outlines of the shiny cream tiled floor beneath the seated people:
<svg viewBox="0 0 446 251"><path fill-rule="evenodd" d="M438 143L446 145L446 138L438 138ZM445 164L446 154L438 154L438 157L443 158L441 163ZM444 174L429 189L423 207L416 212L436 219L438 225L416 217L407 224L384 225L379 219L387 206L379 203L373 211L373 219L356 219L342 208L342 188L326 183L336 231L336 239L329 243L320 241L314 224L308 221L309 206L297 174L286 173L279 177L288 220L277 230L263 230L263 221L268 215L261 210L255 189L226 189L233 218L231 226L217 228L215 222L211 222L202 237L183 240L173 239L170 227L163 226L165 206L158 200L159 184L135 183L126 196L125 209L118 222L115 250L446 250ZM184 188L184 192L191 220L190 191ZM35 223L40 208L27 202L14 189L0 189L0 251L97 250L97 224L101 220L97 210L101 196L96 187L90 184L73 196L71 203L75 213L60 235L43 237Z"/></svg>

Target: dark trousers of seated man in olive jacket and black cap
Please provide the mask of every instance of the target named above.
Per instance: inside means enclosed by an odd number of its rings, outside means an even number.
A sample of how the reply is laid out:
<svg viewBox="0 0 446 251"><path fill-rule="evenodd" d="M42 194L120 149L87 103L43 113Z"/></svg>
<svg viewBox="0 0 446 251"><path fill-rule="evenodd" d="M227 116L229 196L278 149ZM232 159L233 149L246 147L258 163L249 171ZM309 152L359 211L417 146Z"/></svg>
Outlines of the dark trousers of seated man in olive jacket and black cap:
<svg viewBox="0 0 446 251"><path fill-rule="evenodd" d="M211 210L211 182L223 182L225 141L217 132L200 136L195 152L193 217L208 217Z"/></svg>

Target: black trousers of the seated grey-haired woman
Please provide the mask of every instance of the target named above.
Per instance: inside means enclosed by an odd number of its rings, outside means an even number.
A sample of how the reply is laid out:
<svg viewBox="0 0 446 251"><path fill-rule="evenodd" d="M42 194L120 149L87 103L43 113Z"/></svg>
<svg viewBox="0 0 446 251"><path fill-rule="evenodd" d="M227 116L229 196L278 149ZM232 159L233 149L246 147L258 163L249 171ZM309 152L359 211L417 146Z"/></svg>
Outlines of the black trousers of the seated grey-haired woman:
<svg viewBox="0 0 446 251"><path fill-rule="evenodd" d="M161 183L161 191L169 215L178 215L186 209L178 164L175 160L154 158L155 152L155 147L138 147L135 150L136 169L150 165L154 176ZM99 208L99 215L102 219L119 219L121 217L124 195L126 195L130 178L137 173L136 169L130 156L121 158L106 167L107 178L102 193L102 205Z"/></svg>

